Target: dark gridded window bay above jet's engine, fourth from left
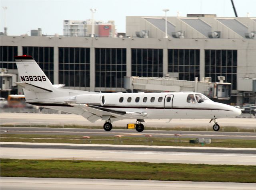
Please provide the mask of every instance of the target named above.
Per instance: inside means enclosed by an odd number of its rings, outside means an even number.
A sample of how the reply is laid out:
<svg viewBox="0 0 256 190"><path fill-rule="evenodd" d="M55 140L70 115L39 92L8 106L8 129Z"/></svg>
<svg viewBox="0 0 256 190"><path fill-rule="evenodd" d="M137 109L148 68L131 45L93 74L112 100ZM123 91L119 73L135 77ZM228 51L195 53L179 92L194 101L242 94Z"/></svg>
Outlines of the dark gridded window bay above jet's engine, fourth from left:
<svg viewBox="0 0 256 190"><path fill-rule="evenodd" d="M95 86L122 88L126 76L126 49L95 48Z"/></svg>

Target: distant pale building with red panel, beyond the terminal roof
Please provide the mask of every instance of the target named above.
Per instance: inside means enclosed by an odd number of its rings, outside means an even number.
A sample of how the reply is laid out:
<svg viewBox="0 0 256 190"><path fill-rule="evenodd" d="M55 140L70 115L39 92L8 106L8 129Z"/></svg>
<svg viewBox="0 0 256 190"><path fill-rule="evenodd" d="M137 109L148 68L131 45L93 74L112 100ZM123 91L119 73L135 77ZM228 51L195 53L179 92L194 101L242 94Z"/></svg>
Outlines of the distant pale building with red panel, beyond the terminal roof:
<svg viewBox="0 0 256 190"><path fill-rule="evenodd" d="M64 20L63 21L64 36L90 36L92 33L92 20ZM109 20L95 21L94 25L95 37L115 37L115 22Z"/></svg>

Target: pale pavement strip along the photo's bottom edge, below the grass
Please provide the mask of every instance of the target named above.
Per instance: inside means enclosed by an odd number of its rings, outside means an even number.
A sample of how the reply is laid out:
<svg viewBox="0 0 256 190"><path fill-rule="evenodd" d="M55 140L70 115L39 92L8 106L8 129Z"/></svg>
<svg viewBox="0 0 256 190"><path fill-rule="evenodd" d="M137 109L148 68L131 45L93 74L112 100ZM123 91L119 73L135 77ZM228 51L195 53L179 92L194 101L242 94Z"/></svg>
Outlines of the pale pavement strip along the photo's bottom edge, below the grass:
<svg viewBox="0 0 256 190"><path fill-rule="evenodd" d="M255 190L252 183L1 177L1 190Z"/></svg>

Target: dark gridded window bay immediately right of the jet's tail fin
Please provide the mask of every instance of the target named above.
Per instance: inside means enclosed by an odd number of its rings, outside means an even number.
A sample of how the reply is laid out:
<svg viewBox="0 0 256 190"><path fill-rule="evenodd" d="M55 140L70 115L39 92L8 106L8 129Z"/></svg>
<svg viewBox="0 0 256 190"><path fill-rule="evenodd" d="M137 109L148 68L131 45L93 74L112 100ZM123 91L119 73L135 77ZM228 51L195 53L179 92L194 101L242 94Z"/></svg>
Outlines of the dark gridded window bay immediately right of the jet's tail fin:
<svg viewBox="0 0 256 190"><path fill-rule="evenodd" d="M90 86L90 48L59 47L59 83Z"/></svg>

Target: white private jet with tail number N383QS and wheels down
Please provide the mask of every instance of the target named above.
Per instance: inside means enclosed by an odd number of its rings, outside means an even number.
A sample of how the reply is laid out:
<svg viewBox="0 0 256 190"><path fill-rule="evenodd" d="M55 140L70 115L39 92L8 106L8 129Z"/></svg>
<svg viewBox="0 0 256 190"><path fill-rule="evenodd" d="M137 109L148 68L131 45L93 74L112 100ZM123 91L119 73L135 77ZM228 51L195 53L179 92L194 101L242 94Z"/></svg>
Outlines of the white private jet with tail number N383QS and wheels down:
<svg viewBox="0 0 256 190"><path fill-rule="evenodd" d="M14 56L26 102L53 110L81 115L90 122L105 121L105 131L112 122L136 120L136 131L144 130L144 119L210 119L213 130L220 125L217 118L231 118L241 114L233 106L214 102L197 92L157 93L101 93L62 88L52 84L30 55Z"/></svg>

